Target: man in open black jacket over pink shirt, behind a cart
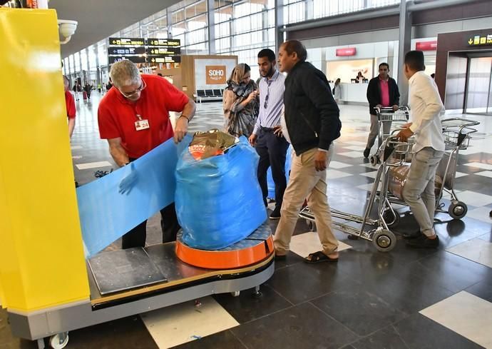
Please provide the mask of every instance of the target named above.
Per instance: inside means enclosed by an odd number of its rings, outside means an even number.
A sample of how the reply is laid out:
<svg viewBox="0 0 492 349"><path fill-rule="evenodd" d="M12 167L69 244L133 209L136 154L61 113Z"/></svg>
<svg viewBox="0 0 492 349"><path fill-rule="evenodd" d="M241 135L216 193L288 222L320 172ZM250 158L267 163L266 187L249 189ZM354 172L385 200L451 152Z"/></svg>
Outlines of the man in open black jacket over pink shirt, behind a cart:
<svg viewBox="0 0 492 349"><path fill-rule="evenodd" d="M369 81L367 86L367 101L369 101L369 113L371 114L371 130L367 138L367 145L364 150L364 158L369 156L372 146L378 133L378 120L374 108L393 107L393 111L398 109L400 101L400 92L396 81L388 75L389 65L387 63L379 64L379 75ZM383 132L388 134L391 129L391 121L383 123Z"/></svg>

